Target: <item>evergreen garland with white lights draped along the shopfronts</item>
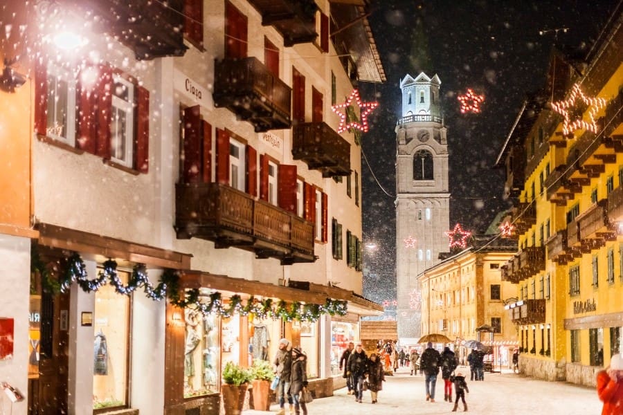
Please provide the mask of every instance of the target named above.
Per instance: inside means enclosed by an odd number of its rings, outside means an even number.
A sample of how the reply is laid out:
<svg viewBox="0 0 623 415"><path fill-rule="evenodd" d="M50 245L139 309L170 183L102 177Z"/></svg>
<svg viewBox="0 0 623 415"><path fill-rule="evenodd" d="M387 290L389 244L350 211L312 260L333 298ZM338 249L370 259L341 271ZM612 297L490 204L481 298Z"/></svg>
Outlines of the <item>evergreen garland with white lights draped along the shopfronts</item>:
<svg viewBox="0 0 623 415"><path fill-rule="evenodd" d="M260 318L270 317L273 320L283 319L288 322L293 320L316 322L323 314L346 315L347 313L347 302L331 298L327 298L325 304L301 304L300 302L288 304L282 299L277 304L273 304L271 298L260 301L251 295L245 304L240 295L232 295L226 302L222 298L222 293L215 291L210 293L209 300L206 301L201 298L197 288L182 291L179 286L179 275L175 270L164 270L159 284L154 288L147 277L144 264L135 265L127 285L123 285L117 274L117 263L112 259L104 262L103 269L98 272L98 276L94 279L89 279L87 267L77 252L73 252L62 262L63 272L56 277L48 270L37 250L32 250L30 270L33 274L39 273L41 275L42 286L47 293L64 293L69 290L74 282L78 283L78 286L85 293L98 291L105 284L111 284L115 291L121 295L130 295L136 289L143 287L145 295L154 301L168 298L171 304L179 308L195 308L204 315L217 314L225 318L235 314L253 314ZM181 295L182 292L184 293L183 296Z"/></svg>

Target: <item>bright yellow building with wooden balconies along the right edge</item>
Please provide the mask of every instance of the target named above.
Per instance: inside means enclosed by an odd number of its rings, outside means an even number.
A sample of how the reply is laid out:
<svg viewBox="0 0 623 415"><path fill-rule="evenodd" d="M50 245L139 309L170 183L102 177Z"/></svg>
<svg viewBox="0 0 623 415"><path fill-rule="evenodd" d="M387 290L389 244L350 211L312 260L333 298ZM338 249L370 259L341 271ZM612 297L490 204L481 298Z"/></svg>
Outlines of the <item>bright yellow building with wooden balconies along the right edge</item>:
<svg viewBox="0 0 623 415"><path fill-rule="evenodd" d="M623 326L623 65L619 17L586 65L552 55L548 84L519 113L498 157L519 252L503 267L519 301L520 369L595 385Z"/></svg>

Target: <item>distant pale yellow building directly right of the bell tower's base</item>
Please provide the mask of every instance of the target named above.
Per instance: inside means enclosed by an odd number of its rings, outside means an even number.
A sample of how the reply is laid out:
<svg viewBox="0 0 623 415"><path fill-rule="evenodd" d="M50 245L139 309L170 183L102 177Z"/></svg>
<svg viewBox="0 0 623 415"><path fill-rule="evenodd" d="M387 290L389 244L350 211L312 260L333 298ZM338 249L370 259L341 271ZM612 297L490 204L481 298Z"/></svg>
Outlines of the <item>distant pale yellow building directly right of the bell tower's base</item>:
<svg viewBox="0 0 623 415"><path fill-rule="evenodd" d="M464 341L480 338L494 346L496 365L507 365L517 337L504 305L516 294L510 282L501 281L500 268L516 245L508 239L487 242L476 242L419 275L422 335L446 335L461 361L469 353ZM487 326L491 334L480 337L478 331Z"/></svg>

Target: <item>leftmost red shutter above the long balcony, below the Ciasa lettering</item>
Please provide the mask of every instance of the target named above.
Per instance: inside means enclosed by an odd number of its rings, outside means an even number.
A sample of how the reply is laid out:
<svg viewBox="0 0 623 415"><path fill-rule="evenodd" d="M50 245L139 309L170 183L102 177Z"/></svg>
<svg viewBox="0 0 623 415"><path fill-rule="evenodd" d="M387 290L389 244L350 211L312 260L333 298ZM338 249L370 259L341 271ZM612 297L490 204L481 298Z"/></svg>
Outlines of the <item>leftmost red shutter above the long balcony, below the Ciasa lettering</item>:
<svg viewBox="0 0 623 415"><path fill-rule="evenodd" d="M201 178L201 109L184 109L184 183L199 183Z"/></svg>

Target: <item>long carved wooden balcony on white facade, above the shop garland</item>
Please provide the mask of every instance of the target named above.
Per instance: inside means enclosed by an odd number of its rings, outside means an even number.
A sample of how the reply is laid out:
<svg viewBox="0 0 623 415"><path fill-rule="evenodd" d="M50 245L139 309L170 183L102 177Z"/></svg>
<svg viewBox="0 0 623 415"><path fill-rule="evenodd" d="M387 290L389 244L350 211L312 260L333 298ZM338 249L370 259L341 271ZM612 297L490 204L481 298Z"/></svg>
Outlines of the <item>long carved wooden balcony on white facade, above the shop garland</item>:
<svg viewBox="0 0 623 415"><path fill-rule="evenodd" d="M282 265L316 260L313 223L228 185L178 183L175 203L179 239L206 239Z"/></svg>

